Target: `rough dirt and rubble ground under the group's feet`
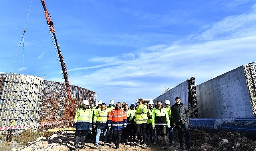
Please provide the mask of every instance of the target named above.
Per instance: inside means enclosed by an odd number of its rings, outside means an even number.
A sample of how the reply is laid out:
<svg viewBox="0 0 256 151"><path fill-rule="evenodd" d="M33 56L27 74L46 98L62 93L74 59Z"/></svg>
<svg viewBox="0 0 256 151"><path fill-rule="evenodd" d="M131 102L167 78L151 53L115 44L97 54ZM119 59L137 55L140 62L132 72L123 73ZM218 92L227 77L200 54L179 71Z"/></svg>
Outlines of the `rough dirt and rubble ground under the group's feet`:
<svg viewBox="0 0 256 151"><path fill-rule="evenodd" d="M177 130L174 131L173 137L174 146L169 146L169 142L167 141L167 151L188 150L186 148L179 148ZM183 137L185 139L185 136ZM256 141L248 139L239 133L226 131L206 133L205 131L191 129L190 137L192 151L256 151ZM74 133L67 133L65 131L57 131L50 136L42 137L42 132L33 133L30 130L24 130L24 132L14 137L12 142L17 141L26 143L26 145L13 148L12 151L165 151L163 146L159 145L148 145L147 149L143 149L143 145L125 145L124 142L120 143L119 149L115 149L115 145L109 143L107 143L107 147L104 147L102 141L99 142L99 148L94 149L92 139L86 139L85 148L74 149L73 140Z"/></svg>

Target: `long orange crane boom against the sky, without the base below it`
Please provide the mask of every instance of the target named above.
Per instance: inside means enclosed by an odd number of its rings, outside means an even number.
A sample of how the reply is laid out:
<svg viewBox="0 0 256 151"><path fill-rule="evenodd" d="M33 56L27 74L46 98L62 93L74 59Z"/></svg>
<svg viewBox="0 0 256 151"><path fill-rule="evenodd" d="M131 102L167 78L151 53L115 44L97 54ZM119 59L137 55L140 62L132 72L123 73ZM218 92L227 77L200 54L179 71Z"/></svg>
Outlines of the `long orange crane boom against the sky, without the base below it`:
<svg viewBox="0 0 256 151"><path fill-rule="evenodd" d="M46 4L44 2L44 0L40 0L41 3L42 3L42 6L44 8L44 12L45 12L45 15L46 15L46 21L47 21L47 24L49 26L49 29L50 29L50 33L52 33L53 37L54 37L54 41L55 41L55 45L56 45L56 48L58 50L58 55L59 55L59 58L60 58L60 65L62 67L62 72L63 72L63 76L64 76L64 80L65 80L65 85L66 85L66 88L67 88L67 95L69 97L69 100L71 100L71 92L70 92L70 88L69 88L69 80L68 80L68 74L67 74L67 67L65 65L65 62L64 62L64 58L63 58L63 55L60 51L60 46L57 42L57 38L56 38L56 34L55 34L55 31L54 31L54 23L53 21L50 19L50 14L46 8Z"/></svg>

